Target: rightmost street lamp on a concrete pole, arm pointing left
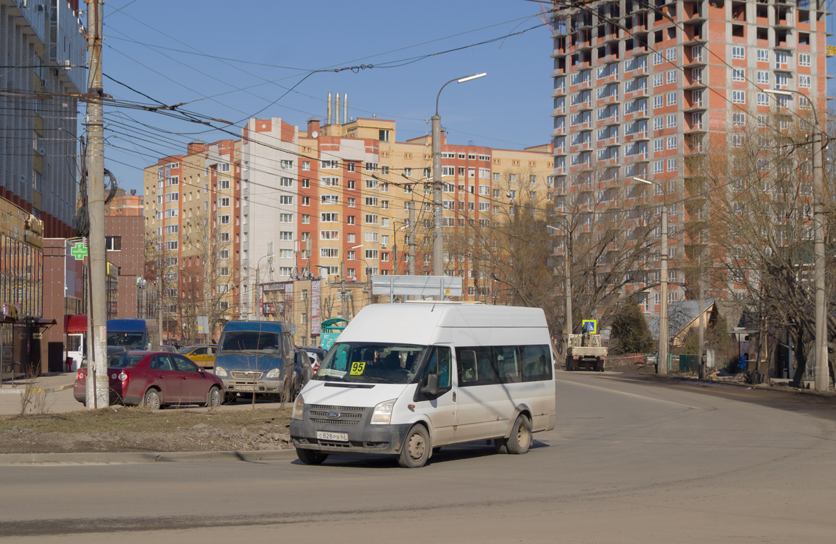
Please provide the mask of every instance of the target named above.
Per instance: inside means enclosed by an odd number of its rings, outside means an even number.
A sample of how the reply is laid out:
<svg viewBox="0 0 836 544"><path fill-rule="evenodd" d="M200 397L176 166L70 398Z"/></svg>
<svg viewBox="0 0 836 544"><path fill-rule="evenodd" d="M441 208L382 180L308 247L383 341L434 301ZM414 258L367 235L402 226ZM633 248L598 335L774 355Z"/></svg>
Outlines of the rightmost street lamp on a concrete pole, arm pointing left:
<svg viewBox="0 0 836 544"><path fill-rule="evenodd" d="M817 391L827 391L830 380L828 377L828 322L827 308L824 303L824 170L822 158L822 141L824 133L818 124L818 114L813 100L807 94L790 90L762 89L764 93L790 96L798 94L810 104L813 110L813 286L815 288L815 329L813 353L816 360Z"/></svg>

